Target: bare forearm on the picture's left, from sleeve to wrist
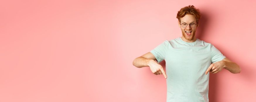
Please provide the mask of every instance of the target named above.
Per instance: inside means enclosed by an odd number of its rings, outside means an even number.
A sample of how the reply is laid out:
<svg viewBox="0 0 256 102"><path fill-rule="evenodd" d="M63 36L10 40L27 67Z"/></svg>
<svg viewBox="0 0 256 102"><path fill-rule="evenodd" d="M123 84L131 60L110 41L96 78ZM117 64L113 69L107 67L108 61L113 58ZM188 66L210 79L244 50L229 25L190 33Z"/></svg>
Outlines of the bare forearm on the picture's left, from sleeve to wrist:
<svg viewBox="0 0 256 102"><path fill-rule="evenodd" d="M141 68L141 67L149 66L148 64L150 63L150 61L153 61L153 59L146 59L143 57L138 57L138 58L134 59L132 64L138 68Z"/></svg>

